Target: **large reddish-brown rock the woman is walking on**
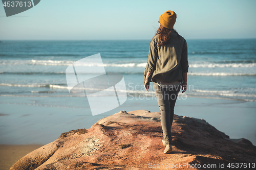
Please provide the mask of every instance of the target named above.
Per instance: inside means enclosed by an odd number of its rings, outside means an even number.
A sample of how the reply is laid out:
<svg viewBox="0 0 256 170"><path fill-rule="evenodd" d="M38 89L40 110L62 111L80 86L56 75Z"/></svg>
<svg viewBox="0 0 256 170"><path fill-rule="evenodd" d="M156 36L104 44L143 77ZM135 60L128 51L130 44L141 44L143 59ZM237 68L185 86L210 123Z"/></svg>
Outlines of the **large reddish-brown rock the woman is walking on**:
<svg viewBox="0 0 256 170"><path fill-rule="evenodd" d="M90 129L62 133L10 169L145 169L179 164L187 166L176 169L189 169L188 164L216 164L218 169L223 163L256 160L256 147L249 140L229 139L203 119L175 115L172 134L173 152L163 154L160 113L120 111Z"/></svg>

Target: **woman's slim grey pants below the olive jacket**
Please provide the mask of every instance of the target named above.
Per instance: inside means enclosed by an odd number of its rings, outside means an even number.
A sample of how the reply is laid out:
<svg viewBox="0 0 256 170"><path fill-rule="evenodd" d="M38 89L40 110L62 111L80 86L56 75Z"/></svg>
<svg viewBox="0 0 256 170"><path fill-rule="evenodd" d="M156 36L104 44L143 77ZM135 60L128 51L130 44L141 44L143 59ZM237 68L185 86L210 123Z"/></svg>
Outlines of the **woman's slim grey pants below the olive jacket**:
<svg viewBox="0 0 256 170"><path fill-rule="evenodd" d="M157 83L154 83L154 88L156 91L158 106L161 112L163 140L165 141L165 144L171 144L172 133L170 132L170 129L172 128L174 119L174 106L181 85L174 88L168 88L167 86L160 86Z"/></svg>

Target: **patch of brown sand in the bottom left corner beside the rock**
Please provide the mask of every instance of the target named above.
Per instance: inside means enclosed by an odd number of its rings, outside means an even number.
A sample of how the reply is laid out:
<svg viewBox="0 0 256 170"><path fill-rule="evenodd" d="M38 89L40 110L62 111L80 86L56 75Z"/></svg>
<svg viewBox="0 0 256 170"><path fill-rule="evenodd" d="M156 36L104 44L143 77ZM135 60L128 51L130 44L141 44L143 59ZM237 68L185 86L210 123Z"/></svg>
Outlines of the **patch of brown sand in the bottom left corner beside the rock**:
<svg viewBox="0 0 256 170"><path fill-rule="evenodd" d="M0 170L9 170L20 158L40 148L42 144L9 145L0 144Z"/></svg>

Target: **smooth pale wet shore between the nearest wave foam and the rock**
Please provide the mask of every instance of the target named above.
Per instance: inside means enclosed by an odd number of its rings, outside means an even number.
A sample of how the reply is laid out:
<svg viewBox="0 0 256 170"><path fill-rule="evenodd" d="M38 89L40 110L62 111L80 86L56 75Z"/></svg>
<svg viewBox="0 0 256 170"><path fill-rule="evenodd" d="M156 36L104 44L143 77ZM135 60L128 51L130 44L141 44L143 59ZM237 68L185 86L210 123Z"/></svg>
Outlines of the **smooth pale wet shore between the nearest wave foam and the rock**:
<svg viewBox="0 0 256 170"><path fill-rule="evenodd" d="M92 116L90 107L65 108L58 106L36 106L24 98L1 97L14 103L0 103L2 108L0 124L0 144L46 144L54 141L63 132L72 129L89 129L99 119L117 113L120 110L149 110L159 112L156 100L130 100L120 107L103 114ZM35 100L37 100L35 98ZM50 99L49 99L50 100ZM63 99L59 99L61 100ZM75 98L64 99L71 103ZM80 98L79 98L80 100ZM78 100L78 102L80 102ZM77 103L78 103L77 102ZM27 103L27 105L26 105ZM81 104L78 103L78 104ZM256 107L254 102L240 100L220 100L189 97L177 101L175 114L203 118L230 138L246 138L256 145ZM20 112L24 110L24 112ZM39 121L40 120L40 121ZM45 137L47 136L47 137Z"/></svg>

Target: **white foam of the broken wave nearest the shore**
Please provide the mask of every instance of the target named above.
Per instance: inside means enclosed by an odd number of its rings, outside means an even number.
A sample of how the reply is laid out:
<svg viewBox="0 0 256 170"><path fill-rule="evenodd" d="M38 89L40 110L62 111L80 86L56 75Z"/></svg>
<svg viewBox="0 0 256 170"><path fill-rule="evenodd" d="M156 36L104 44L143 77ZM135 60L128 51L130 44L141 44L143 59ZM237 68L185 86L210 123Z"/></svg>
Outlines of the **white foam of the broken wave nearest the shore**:
<svg viewBox="0 0 256 170"><path fill-rule="evenodd" d="M0 84L0 86L3 84ZM7 85L7 84L5 84ZM63 92L63 94L54 94L56 91L41 91L37 90L34 91L32 90L30 94L0 94L0 96L32 96L32 97L67 97L67 96L72 96L72 94L69 94L68 92L68 87L63 86L63 85L20 85L20 84L15 84L12 86L18 86L18 87L49 87L49 88L56 88L56 89L65 89L66 92ZM77 92L80 93L79 89L86 89L90 91L100 91L100 90L105 90L105 89L99 89L99 88L76 88L75 90L78 90ZM253 88L254 89L254 88ZM179 96L181 98L184 98L184 96L191 96L191 97L200 97L200 98L212 98L212 99L229 99L229 100L243 100L243 101L249 101L249 102L255 102L256 101L256 93L254 92L255 89L235 89L235 90L200 90L200 89L193 89L193 90L187 90L187 92L184 93L179 93ZM114 91L114 90L109 90L109 91ZM132 96L137 96L139 99L145 99L147 97L149 98L156 98L156 94L154 90L150 90L149 92L145 90L118 90L121 92L126 92L127 96L132 97ZM252 92L252 93L251 93ZM50 93L53 93L50 95ZM76 93L76 91L74 91ZM44 94L44 95L42 95ZM76 95L77 97L82 97L82 95ZM93 96L100 96L98 94L94 94ZM148 99L149 99L148 98Z"/></svg>

